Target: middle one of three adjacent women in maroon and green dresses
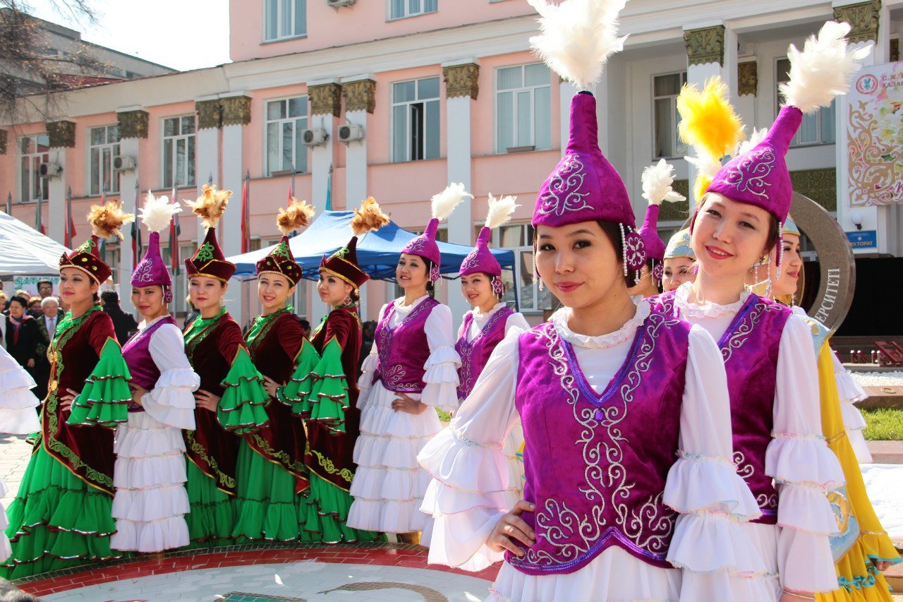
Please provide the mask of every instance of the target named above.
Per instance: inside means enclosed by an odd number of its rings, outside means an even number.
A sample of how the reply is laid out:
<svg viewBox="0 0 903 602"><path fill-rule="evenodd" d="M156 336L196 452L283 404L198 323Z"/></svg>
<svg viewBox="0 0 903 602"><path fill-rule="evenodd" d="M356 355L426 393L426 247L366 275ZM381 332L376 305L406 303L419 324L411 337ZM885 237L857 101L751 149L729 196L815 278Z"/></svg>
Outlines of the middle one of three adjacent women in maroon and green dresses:
<svg viewBox="0 0 903 602"><path fill-rule="evenodd" d="M294 199L277 217L282 240L264 259L257 261L257 297L264 308L245 334L251 359L264 375L270 396L265 426L241 437L238 447L236 525L232 535L247 541L311 541L312 534L299 528L298 500L306 491L304 466L306 436L301 417L278 396L296 368L311 372L317 354L304 338L301 322L288 305L302 268L289 247L289 232L306 226L313 208ZM297 484L297 486L296 486ZM316 538L319 539L319 538Z"/></svg>

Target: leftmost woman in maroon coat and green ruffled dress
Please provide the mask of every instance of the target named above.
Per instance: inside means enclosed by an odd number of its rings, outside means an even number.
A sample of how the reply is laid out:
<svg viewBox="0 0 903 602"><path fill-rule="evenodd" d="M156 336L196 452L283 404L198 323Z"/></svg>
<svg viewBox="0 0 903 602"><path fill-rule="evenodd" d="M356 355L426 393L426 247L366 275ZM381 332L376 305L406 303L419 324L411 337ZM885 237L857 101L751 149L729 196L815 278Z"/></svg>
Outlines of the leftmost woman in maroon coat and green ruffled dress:
<svg viewBox="0 0 903 602"><path fill-rule="evenodd" d="M0 569L4 578L117 556L110 550L113 430L127 420L132 395L113 322L98 304L98 288L112 273L98 245L133 219L118 202L91 207L91 238L60 258L60 293L70 311L47 352L51 381L40 436L9 507L13 553Z"/></svg>

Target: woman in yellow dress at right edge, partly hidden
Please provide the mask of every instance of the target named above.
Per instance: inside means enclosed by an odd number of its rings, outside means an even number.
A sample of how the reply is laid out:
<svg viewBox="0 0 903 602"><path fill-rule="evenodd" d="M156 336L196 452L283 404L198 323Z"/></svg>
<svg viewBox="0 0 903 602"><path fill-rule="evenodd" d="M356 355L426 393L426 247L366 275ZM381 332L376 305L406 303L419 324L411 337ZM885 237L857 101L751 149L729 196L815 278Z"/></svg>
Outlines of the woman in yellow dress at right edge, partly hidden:
<svg viewBox="0 0 903 602"><path fill-rule="evenodd" d="M841 378L846 377L851 381L852 378L828 344L831 331L805 315L802 307L793 305L802 274L803 258L799 252L800 231L789 217L781 231L781 238L783 249L780 269L777 266L777 249L772 249L768 258L768 276L759 276L757 279L767 278L769 283L773 283L771 294L781 303L790 306L793 313L803 318L811 329L815 353L818 355L822 431L828 447L831 447L840 461L846 479L845 486L828 493L828 500L841 527L841 532L831 538L837 583L840 587L828 594L818 594L817 599L823 602L890 602L888 583L881 571L899 562L900 558L887 531L875 515L862 482L851 436L854 433L861 437L861 430L851 430L846 425L850 416L858 416L862 426L864 420L849 400L843 400L839 396L844 387L849 385L844 385L838 378L836 366L840 365ZM847 404L849 409L845 407Z"/></svg>

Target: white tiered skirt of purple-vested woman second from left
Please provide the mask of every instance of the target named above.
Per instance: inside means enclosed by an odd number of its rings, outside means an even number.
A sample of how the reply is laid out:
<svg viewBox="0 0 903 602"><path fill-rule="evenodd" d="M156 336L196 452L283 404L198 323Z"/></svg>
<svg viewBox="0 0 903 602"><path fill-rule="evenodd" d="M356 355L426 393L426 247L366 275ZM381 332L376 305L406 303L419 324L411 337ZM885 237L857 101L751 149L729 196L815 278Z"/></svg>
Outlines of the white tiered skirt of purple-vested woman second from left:
<svg viewBox="0 0 903 602"><path fill-rule="evenodd" d="M180 428L130 412L116 430L114 550L157 552L187 546L185 444Z"/></svg>

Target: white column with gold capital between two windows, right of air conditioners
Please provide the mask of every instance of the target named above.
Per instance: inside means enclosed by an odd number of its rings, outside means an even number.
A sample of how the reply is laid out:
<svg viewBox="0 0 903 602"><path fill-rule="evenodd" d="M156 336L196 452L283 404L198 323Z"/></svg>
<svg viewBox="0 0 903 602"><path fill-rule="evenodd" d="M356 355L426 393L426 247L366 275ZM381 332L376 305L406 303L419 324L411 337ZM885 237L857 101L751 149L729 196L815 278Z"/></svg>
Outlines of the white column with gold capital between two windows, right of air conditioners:
<svg viewBox="0 0 903 602"><path fill-rule="evenodd" d="M479 94L477 80L479 61L452 61L442 64L445 75L445 139L447 144L448 181L461 182L464 189L474 193L470 174L470 103ZM489 191L487 191L489 192ZM479 191L475 194L481 194ZM473 240L472 200L465 199L458 205L448 221L449 242L470 246ZM449 307L452 309L453 331L458 332L461 320L470 310L470 305L459 290L458 280L445 280L448 287Z"/></svg>

